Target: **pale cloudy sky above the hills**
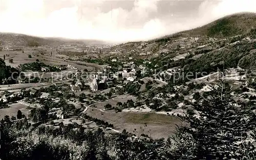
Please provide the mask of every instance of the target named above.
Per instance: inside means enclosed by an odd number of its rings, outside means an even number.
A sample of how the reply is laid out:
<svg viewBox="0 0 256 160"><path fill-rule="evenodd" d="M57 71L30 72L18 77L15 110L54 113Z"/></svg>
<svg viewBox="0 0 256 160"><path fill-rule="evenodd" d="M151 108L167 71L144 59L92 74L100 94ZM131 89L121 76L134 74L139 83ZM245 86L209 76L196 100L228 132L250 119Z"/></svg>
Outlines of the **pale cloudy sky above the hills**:
<svg viewBox="0 0 256 160"><path fill-rule="evenodd" d="M225 15L255 0L0 0L0 32L109 42L148 40Z"/></svg>

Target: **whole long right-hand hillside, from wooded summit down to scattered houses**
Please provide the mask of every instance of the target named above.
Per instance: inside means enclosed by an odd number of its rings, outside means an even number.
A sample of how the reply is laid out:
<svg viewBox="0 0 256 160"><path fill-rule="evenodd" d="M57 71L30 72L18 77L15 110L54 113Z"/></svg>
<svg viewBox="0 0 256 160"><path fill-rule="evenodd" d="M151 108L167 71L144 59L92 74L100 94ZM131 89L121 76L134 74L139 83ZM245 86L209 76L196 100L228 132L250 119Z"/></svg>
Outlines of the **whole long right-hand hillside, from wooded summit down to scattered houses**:
<svg viewBox="0 0 256 160"><path fill-rule="evenodd" d="M223 39L227 39L227 42L222 42L223 44L231 43L231 41L235 42L237 40L233 39L233 37L238 35L253 35L252 30L254 31L255 29L256 13L237 13L225 16L196 29L179 32L173 35L166 35L144 42L138 41L119 44L113 46L109 52L107 52L107 55L117 57L122 55L138 57L139 55L142 55L142 58L145 58L159 55L161 52L170 53L174 51L177 46L184 48L184 53L188 52L188 50L193 52L191 48L204 46L213 42L219 43L218 41L222 41ZM182 38L185 38L185 40L182 40ZM193 38L200 39L195 41ZM214 40L210 40L210 38ZM223 44L218 45L221 46Z"/></svg>

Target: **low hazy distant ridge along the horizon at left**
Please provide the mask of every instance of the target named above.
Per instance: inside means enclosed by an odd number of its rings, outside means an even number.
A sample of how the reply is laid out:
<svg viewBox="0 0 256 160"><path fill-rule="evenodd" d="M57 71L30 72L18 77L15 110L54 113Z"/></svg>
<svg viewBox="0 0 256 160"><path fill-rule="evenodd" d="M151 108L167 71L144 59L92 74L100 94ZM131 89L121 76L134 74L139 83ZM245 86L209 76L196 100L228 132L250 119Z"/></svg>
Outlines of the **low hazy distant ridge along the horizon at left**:
<svg viewBox="0 0 256 160"><path fill-rule="evenodd" d="M36 37L15 33L0 33L0 44L9 46L58 46L65 44L100 45L104 43L105 42L98 40L73 40L65 38Z"/></svg>

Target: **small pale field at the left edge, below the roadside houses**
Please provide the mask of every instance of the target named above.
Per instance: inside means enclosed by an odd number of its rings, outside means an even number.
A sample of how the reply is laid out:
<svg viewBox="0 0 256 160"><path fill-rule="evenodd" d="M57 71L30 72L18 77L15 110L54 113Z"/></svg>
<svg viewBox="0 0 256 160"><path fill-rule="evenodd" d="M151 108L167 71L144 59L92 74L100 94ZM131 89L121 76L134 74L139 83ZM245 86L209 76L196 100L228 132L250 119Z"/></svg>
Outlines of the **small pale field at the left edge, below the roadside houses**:
<svg viewBox="0 0 256 160"><path fill-rule="evenodd" d="M16 117L18 110L22 111L22 114L28 117L29 113L28 113L28 110L26 109L27 105L23 105L20 103L13 103L13 104L10 104L9 106L10 106L9 108L0 109L0 119L4 118L5 115L10 116L10 118L12 116Z"/></svg>

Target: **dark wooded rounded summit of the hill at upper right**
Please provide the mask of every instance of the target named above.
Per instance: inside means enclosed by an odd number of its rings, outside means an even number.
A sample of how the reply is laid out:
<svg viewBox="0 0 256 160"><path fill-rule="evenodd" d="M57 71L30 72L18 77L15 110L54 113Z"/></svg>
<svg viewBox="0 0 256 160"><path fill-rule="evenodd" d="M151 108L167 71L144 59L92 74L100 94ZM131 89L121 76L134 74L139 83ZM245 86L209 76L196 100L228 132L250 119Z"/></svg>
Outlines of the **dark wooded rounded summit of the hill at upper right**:
<svg viewBox="0 0 256 160"><path fill-rule="evenodd" d="M230 37L248 33L251 29L256 29L256 13L236 13L217 19L199 28L182 31L167 37L180 36L209 36L209 37ZM160 38L161 39L161 38Z"/></svg>

